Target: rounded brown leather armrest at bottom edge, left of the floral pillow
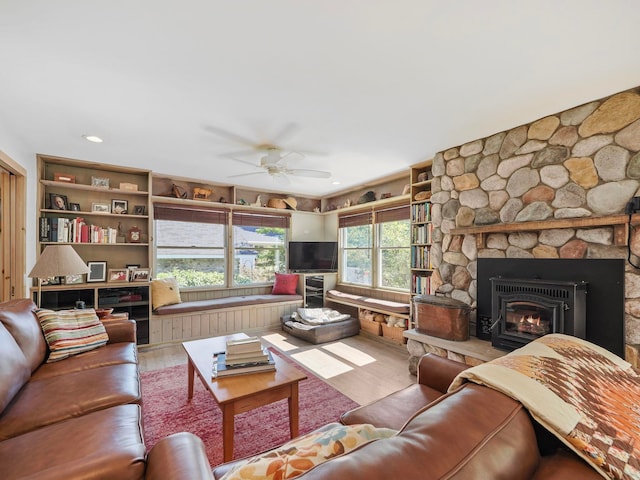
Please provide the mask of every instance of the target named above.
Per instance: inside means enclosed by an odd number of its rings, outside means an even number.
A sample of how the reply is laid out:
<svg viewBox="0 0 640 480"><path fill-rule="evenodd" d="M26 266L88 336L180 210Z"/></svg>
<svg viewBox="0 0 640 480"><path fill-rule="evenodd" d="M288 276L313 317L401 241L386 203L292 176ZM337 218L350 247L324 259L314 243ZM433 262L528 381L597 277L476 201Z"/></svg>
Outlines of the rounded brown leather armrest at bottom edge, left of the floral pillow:
<svg viewBox="0 0 640 480"><path fill-rule="evenodd" d="M180 432L156 443L147 456L149 480L213 480L204 443L200 437Z"/></svg>

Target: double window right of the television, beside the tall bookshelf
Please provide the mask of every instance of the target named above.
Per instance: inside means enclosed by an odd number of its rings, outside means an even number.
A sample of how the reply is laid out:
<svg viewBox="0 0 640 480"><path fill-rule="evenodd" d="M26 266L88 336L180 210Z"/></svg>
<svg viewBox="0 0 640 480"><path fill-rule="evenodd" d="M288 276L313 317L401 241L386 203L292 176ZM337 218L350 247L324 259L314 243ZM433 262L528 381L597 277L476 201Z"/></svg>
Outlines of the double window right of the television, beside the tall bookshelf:
<svg viewBox="0 0 640 480"><path fill-rule="evenodd" d="M409 206L376 208L339 217L341 281L408 290L411 273Z"/></svg>

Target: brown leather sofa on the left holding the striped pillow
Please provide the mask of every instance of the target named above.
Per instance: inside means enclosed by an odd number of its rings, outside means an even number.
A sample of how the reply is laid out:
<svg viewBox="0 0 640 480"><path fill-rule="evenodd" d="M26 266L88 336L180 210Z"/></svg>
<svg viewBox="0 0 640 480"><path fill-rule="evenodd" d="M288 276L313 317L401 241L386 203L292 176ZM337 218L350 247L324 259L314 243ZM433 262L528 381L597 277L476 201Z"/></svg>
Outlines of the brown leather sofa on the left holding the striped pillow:
<svg viewBox="0 0 640 480"><path fill-rule="evenodd" d="M105 322L103 347L45 363L34 309L0 303L1 478L211 478L195 435L167 437L147 455L133 320Z"/></svg>

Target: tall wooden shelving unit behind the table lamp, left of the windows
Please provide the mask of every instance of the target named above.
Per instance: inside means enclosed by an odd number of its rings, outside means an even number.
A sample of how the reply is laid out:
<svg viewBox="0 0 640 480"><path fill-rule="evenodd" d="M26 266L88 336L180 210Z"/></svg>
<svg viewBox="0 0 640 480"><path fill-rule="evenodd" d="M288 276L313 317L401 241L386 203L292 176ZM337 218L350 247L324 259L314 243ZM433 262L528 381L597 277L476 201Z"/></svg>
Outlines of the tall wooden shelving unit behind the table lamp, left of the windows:
<svg viewBox="0 0 640 480"><path fill-rule="evenodd" d="M37 160L38 254L47 245L71 245L85 262L106 262L107 278L109 269L151 267L151 172L49 155ZM65 200L64 208L56 208L56 197ZM75 300L82 300L87 306L128 312L138 323L138 342L149 342L149 282L81 280L51 279L42 287L42 306L73 308Z"/></svg>

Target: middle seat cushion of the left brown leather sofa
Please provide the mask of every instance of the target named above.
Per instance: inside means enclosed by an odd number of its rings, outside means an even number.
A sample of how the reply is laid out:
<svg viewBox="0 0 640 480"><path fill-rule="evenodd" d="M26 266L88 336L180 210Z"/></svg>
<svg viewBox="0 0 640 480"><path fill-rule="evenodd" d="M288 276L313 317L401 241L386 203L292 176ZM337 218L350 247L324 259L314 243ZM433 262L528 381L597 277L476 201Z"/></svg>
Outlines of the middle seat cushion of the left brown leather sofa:
<svg viewBox="0 0 640 480"><path fill-rule="evenodd" d="M2 412L0 440L105 408L138 402L138 366L131 363L32 378Z"/></svg>

